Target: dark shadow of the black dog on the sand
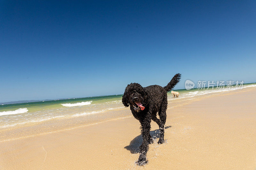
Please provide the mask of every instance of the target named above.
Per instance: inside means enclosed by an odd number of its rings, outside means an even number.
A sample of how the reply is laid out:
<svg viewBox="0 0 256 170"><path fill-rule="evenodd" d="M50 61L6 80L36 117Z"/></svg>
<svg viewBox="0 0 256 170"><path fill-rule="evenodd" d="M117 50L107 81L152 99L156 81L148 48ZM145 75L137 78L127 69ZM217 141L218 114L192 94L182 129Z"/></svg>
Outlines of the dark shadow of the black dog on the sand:
<svg viewBox="0 0 256 170"><path fill-rule="evenodd" d="M172 126L166 126L164 127L164 129L168 129L168 128L171 128ZM156 130L152 130L150 131L150 135L153 137L153 138L159 138L160 136L160 130L159 129L156 129ZM142 143L142 136L139 135L137 137L135 137L128 146L125 146L124 148L127 149L128 151L130 151L131 153L139 153L140 152L140 145Z"/></svg>

